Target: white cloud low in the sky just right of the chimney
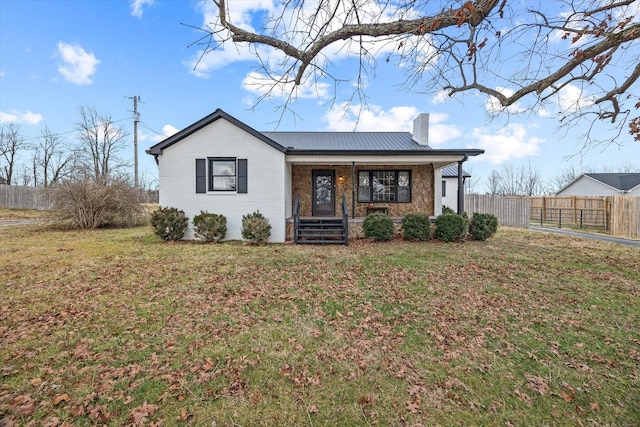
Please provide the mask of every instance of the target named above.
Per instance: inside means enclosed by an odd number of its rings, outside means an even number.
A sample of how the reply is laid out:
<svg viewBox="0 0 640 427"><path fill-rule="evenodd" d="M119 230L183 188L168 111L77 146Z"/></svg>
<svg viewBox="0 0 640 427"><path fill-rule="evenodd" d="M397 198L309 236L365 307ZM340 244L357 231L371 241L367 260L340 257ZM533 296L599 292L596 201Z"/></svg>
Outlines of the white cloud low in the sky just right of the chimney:
<svg viewBox="0 0 640 427"><path fill-rule="evenodd" d="M512 123L496 132L484 128L472 131L474 148L481 148L485 153L479 161L488 161L497 165L512 159L535 156L540 153L543 139L529 135L523 124Z"/></svg>

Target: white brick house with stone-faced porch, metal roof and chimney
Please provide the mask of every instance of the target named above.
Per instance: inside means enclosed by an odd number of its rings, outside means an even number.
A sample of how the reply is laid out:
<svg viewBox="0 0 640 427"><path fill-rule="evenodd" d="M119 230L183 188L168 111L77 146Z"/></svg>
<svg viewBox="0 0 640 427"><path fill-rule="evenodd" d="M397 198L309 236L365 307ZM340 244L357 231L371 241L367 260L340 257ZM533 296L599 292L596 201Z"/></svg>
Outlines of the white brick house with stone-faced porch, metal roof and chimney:
<svg viewBox="0 0 640 427"><path fill-rule="evenodd" d="M322 219L343 214L344 196L354 223L376 210L440 213L441 168L484 151L429 147L428 119L418 116L413 134L258 132L218 109L147 153L158 163L161 206L189 218L222 214L227 239L241 239L242 216L259 210L270 241L284 242L296 232L297 200L299 217ZM193 238L191 226L185 238Z"/></svg>

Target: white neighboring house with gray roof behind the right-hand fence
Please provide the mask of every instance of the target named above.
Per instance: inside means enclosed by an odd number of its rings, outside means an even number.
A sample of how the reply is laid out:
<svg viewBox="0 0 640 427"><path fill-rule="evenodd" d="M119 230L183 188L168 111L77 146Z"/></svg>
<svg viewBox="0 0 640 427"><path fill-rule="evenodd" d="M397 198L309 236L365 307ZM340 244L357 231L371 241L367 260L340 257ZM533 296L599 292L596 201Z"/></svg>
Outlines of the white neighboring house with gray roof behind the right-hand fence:
<svg viewBox="0 0 640 427"><path fill-rule="evenodd" d="M562 187L556 196L640 197L640 173L583 173Z"/></svg>

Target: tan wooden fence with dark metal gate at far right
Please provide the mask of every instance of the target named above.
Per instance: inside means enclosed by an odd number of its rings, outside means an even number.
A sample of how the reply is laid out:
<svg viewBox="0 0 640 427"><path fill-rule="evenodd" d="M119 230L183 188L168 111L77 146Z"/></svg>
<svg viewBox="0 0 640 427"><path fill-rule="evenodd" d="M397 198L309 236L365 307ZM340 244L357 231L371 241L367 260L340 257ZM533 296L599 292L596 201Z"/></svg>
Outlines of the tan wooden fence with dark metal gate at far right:
<svg viewBox="0 0 640 427"><path fill-rule="evenodd" d="M640 197L531 197L532 223L562 228L596 228L612 236L640 236Z"/></svg>

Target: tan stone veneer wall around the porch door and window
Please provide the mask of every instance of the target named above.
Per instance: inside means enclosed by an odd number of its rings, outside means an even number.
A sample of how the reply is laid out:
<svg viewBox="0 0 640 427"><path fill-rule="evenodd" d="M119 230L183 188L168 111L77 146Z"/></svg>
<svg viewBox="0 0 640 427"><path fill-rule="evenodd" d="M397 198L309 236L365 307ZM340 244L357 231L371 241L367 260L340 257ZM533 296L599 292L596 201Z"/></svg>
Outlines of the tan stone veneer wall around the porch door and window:
<svg viewBox="0 0 640 427"><path fill-rule="evenodd" d="M311 171L313 169L334 169L336 171L336 215L340 215L340 203L342 195L347 196L348 214L351 216L351 166L350 165L293 165L292 168L292 191L293 198L300 197L300 215L311 216ZM373 206L386 206L389 209L389 216L402 217L408 213L434 214L433 203L433 165L413 165L413 166L389 166L389 165L357 165L355 167L355 179L358 179L360 170L411 170L411 202L410 203L373 203ZM344 181L340 182L339 177L343 176ZM357 182L356 182L357 185ZM357 202L356 216L363 217L367 214L367 207L370 203Z"/></svg>

